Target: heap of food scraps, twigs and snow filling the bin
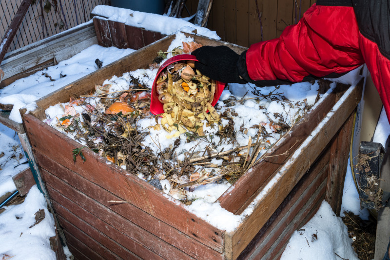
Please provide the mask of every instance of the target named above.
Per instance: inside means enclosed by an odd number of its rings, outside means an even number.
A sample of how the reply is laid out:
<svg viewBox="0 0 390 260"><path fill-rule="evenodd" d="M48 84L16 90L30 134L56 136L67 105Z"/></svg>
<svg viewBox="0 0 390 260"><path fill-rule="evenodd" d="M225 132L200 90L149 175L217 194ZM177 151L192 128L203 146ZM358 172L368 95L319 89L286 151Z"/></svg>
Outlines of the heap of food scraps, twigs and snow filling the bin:
<svg viewBox="0 0 390 260"><path fill-rule="evenodd" d="M197 45L192 41L178 34L158 56L191 52L189 46ZM49 107L45 121L185 203L199 196L214 202L318 100L317 82L299 86L299 96L284 94L291 86L259 92L250 84L228 85L212 106L215 80L178 61L158 75L164 113L155 116L149 111L151 87L162 58ZM83 160L82 148L73 151L74 160ZM199 186L218 194L199 195Z"/></svg>

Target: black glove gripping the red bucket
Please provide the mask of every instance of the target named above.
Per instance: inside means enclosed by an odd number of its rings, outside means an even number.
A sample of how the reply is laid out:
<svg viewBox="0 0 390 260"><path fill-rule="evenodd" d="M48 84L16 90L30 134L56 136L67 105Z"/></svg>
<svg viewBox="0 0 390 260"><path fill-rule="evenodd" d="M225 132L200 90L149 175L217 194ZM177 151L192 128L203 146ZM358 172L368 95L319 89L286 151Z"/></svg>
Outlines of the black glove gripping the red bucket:
<svg viewBox="0 0 390 260"><path fill-rule="evenodd" d="M227 46L202 46L191 53L196 56L195 68L213 80L245 84L240 78L237 61L240 57Z"/></svg>

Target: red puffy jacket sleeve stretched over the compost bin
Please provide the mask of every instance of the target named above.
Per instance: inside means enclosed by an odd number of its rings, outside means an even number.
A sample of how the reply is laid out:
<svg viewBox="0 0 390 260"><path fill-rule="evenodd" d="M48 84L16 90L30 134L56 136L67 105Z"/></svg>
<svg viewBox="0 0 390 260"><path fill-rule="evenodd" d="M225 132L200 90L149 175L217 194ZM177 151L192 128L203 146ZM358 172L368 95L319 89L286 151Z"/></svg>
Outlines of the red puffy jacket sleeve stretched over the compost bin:
<svg viewBox="0 0 390 260"><path fill-rule="evenodd" d="M255 43L243 55L242 76L263 86L336 77L364 63L353 8L316 4L279 38Z"/></svg>

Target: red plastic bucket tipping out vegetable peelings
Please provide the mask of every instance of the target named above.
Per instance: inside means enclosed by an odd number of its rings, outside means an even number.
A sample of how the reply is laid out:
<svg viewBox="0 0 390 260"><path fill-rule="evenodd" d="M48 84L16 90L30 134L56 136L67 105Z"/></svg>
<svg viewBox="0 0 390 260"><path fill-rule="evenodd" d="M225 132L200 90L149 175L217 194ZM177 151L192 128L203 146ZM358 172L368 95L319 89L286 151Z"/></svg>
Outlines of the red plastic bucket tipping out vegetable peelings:
<svg viewBox="0 0 390 260"><path fill-rule="evenodd" d="M180 61L180 60L195 60L195 61L197 61L196 57L194 55L180 54L180 55L176 55L176 56L168 59L158 68L155 81L153 81L152 99L150 100L150 112L154 115L164 113L164 104L161 103L160 100L158 100L158 94L157 94L157 90L156 90L156 81L158 80L161 71L163 71L165 69L165 67L167 67L171 63L174 63L174 62ZM212 106L214 106L216 104L216 102L218 101L219 97L222 94L223 89L225 88L225 85L226 85L226 83L216 81L214 99L213 99L213 102L211 102Z"/></svg>

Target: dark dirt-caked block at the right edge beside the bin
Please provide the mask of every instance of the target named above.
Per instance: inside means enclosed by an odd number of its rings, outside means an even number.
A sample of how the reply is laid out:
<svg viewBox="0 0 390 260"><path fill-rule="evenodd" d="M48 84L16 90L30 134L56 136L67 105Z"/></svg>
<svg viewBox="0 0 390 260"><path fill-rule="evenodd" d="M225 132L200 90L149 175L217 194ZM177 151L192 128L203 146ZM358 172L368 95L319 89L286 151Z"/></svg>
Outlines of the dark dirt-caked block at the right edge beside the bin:
<svg viewBox="0 0 390 260"><path fill-rule="evenodd" d="M389 143L389 139L387 144ZM388 145L386 145L386 148ZM389 149L387 149L389 150ZM386 206L390 199L390 174L382 169L388 164L389 151L377 142L360 142L357 169L360 175L360 207L378 211ZM386 154L386 160L385 159Z"/></svg>

